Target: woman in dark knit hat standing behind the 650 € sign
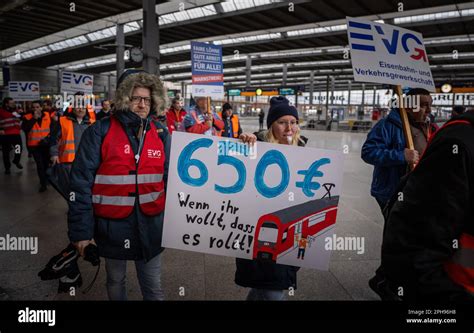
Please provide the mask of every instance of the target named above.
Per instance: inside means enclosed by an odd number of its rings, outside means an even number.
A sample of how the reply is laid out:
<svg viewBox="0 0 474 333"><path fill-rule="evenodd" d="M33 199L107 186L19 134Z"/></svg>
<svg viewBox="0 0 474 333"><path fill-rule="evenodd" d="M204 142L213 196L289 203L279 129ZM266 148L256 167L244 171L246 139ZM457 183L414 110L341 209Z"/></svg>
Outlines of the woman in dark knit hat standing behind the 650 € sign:
<svg viewBox="0 0 474 333"><path fill-rule="evenodd" d="M268 130L255 133L258 141L304 147L307 138L300 135L298 111L282 96L270 100ZM284 300L284 290L296 289L298 267L261 260L236 259L235 283L251 288L247 300Z"/></svg>

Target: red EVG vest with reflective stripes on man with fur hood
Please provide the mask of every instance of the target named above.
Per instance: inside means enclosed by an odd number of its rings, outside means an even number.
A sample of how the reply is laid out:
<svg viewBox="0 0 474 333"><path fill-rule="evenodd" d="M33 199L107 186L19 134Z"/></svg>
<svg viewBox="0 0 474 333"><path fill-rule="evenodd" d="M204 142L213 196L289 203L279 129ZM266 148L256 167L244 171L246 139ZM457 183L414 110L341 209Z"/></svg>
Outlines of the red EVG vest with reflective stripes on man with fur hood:
<svg viewBox="0 0 474 333"><path fill-rule="evenodd" d="M123 219L133 212L135 200L150 216L165 208L163 142L153 123L146 132L138 166L133 149L119 121L112 116L102 144L102 164L92 188L94 214Z"/></svg>

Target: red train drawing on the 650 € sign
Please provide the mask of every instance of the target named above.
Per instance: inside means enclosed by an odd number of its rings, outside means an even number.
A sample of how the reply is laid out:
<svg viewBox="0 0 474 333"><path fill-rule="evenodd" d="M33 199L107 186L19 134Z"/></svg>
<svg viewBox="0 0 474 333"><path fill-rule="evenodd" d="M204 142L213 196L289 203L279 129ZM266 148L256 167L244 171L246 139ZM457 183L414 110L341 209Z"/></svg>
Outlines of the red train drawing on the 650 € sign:
<svg viewBox="0 0 474 333"><path fill-rule="evenodd" d="M295 235L315 236L336 223L339 196L311 200L260 217L255 229L253 259L271 260L295 246Z"/></svg>

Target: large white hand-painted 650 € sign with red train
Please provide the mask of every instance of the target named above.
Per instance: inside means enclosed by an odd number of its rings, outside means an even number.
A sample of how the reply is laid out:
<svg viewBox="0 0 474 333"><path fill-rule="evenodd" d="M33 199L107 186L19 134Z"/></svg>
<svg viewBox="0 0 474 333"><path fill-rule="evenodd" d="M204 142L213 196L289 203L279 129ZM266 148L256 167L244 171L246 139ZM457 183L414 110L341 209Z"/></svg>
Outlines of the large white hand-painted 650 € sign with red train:
<svg viewBox="0 0 474 333"><path fill-rule="evenodd" d="M342 164L338 151L175 132L163 246L327 270Z"/></svg>

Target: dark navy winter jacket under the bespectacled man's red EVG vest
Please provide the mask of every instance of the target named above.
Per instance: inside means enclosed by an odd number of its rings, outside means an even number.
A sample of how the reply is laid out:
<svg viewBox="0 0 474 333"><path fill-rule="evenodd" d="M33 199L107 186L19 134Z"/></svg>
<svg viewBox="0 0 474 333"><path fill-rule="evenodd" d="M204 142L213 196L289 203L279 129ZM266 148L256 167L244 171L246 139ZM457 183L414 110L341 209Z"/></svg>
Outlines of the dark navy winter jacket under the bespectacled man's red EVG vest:
<svg viewBox="0 0 474 333"><path fill-rule="evenodd" d="M139 145L137 132L141 123L140 117L130 111L117 112L114 117L117 117L125 129L135 155ZM152 121L151 117L149 119ZM155 122L155 125L165 147L163 180L166 186L171 139L166 127L158 122ZM94 216L92 186L101 163L101 144L109 128L110 117L106 117L90 126L82 136L71 169L70 190L75 194L75 200L69 202L69 239L75 242L94 238L102 257L148 261L163 250L161 237L164 212L157 216L144 215L137 200L132 214L125 219L113 220Z"/></svg>

